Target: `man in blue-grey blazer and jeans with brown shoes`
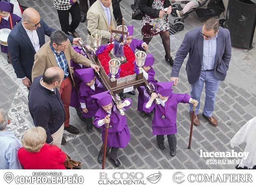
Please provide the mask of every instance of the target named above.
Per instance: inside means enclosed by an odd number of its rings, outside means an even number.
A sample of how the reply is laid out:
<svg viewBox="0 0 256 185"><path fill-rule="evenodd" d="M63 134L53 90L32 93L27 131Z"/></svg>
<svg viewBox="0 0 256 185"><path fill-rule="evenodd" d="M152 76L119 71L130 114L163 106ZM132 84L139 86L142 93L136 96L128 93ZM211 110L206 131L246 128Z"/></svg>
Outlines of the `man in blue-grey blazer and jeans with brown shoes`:
<svg viewBox="0 0 256 185"><path fill-rule="evenodd" d="M214 127L218 125L212 112L220 81L225 80L231 59L230 33L227 29L219 26L217 19L210 18L204 22L202 27L187 32L176 53L171 71L170 80L175 82L174 85L177 85L180 68L189 53L186 63L187 79L191 85L191 96L198 101L195 110L195 126L199 125L197 114L204 84L206 97L202 116ZM190 118L192 111L193 105L190 105Z"/></svg>

